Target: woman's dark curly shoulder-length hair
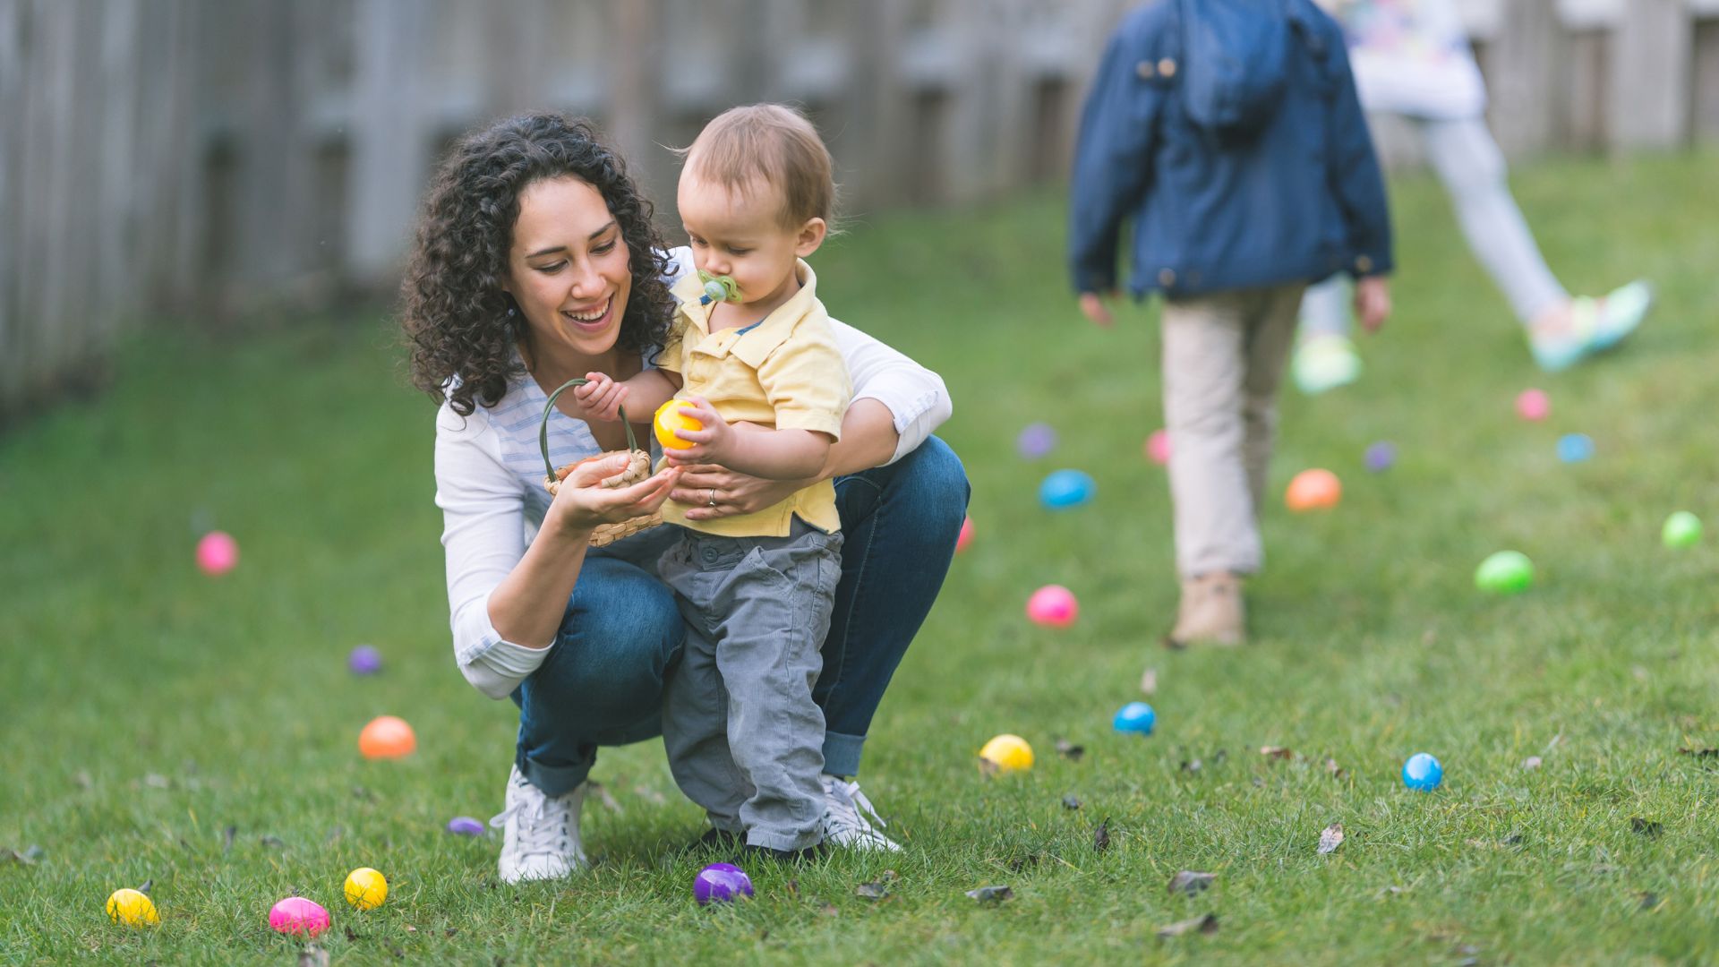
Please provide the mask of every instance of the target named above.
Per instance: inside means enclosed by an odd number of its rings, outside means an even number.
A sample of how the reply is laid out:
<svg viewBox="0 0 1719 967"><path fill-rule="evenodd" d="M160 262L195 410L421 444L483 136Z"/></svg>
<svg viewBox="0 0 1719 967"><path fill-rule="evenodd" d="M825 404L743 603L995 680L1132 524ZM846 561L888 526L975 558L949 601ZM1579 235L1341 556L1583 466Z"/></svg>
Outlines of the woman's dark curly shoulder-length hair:
<svg viewBox="0 0 1719 967"><path fill-rule="evenodd" d="M442 162L401 286L413 385L437 401L445 394L461 416L500 403L509 380L523 372L514 344L526 337L526 320L502 291L519 194L538 181L567 176L609 201L631 256L633 294L615 346L643 354L667 337L674 313L662 282L667 246L621 155L583 119L524 114L493 122L461 138ZM459 379L449 385L452 377Z"/></svg>

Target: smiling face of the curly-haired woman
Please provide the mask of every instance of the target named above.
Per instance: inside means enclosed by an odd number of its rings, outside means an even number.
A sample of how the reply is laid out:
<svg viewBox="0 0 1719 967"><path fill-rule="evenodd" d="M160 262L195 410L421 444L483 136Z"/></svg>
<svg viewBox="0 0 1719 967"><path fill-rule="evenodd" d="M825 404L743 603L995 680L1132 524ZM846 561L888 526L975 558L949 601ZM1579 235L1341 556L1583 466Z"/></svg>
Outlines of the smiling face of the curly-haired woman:
<svg viewBox="0 0 1719 967"><path fill-rule="evenodd" d="M583 356L614 348L633 272L621 224L595 188L557 177L519 193L504 289L524 313L533 344Z"/></svg>

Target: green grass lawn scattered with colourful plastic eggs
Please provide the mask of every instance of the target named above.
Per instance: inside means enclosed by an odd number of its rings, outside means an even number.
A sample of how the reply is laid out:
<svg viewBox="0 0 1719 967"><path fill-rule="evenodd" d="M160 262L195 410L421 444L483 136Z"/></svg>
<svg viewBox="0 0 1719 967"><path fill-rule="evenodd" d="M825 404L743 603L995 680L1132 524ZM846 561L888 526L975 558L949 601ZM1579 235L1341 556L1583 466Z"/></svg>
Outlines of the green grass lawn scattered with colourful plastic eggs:
<svg viewBox="0 0 1719 967"><path fill-rule="evenodd" d="M602 755L588 876L499 886L497 838L442 831L500 809L516 718L452 664L433 406L385 322L151 336L112 392L0 439L0 847L40 847L0 850L0 962L289 964L303 945L265 915L292 893L333 912L342 964L1712 962L1719 778L1679 747L1719 745L1719 542L1671 552L1659 525L1719 527L1719 231L1698 201L1716 162L1514 177L1573 287L1659 284L1631 342L1557 377L1532 368L1439 188L1394 184L1398 315L1360 384L1282 406L1274 490L1325 466L1344 499L1265 509L1246 650L1157 645L1176 583L1141 456L1162 422L1155 310L1114 330L1074 311L1062 198L861 219L820 253L820 294L945 375L978 537L868 745L865 788L906 852L755 871L758 898L729 908L689 898L700 864L676 850L701 819L653 743ZM1545 423L1513 415L1528 385ZM1061 444L1026 463L1033 420ZM1566 432L1597 456L1559 463ZM1368 475L1380 439L1401 459ZM1042 511L1057 466L1093 473L1097 501ZM208 527L242 549L222 580L193 566ZM1530 594L1473 590L1502 547L1535 559ZM1021 616L1052 582L1080 595L1073 628ZM366 642L387 669L354 678ZM1157 735L1117 735L1147 668ZM366 762L358 731L385 712L419 750ZM987 781L975 752L1002 731L1038 764ZM1432 795L1398 778L1418 750L1446 767ZM1331 822L1348 838L1317 855ZM342 902L358 865L388 874L383 908ZM1169 895L1183 869L1214 888ZM884 900L856 895L885 871ZM144 881L162 926L110 924L107 895ZM964 895L987 884L1014 896ZM1217 933L1157 936L1203 914Z"/></svg>

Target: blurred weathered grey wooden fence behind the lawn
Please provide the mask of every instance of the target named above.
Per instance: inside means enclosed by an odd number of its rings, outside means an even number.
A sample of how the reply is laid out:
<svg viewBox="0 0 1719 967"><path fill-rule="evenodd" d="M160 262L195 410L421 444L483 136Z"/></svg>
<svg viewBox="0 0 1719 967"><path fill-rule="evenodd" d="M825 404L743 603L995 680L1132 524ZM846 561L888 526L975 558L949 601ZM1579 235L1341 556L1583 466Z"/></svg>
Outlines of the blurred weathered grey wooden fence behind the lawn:
<svg viewBox="0 0 1719 967"><path fill-rule="evenodd" d="M1719 0L1461 3L1513 155L1719 138ZM664 201L662 145L753 100L861 215L1057 179L1129 5L0 0L0 418L151 317L388 293L435 158L507 112L595 117Z"/></svg>

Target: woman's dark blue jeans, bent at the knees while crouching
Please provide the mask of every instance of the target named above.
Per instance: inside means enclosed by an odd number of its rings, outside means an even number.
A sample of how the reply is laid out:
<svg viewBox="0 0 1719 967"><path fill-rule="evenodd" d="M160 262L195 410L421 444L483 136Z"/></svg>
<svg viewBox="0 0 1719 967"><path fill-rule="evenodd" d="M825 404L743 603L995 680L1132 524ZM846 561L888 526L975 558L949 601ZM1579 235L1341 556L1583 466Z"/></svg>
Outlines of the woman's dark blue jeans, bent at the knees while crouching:
<svg viewBox="0 0 1719 967"><path fill-rule="evenodd" d="M949 573L966 502L966 471L937 437L889 466L835 478L842 578L811 692L827 773L860 771L872 714ZM653 528L586 556L548 657L514 690L514 764L548 795L583 783L600 745L662 735L664 681L684 625L650 568L672 537Z"/></svg>

